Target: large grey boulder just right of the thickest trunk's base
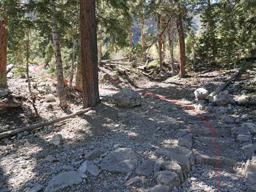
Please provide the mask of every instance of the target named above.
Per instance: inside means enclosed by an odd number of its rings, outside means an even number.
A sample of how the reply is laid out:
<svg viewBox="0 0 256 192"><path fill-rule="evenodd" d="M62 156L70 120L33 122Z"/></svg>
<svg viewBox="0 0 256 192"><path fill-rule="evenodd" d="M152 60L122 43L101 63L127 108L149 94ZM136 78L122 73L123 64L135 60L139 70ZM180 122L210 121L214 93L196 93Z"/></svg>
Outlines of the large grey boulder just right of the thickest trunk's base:
<svg viewBox="0 0 256 192"><path fill-rule="evenodd" d="M114 103L121 107L133 108L139 106L141 101L141 95L137 91L133 91L129 88L125 88L113 95Z"/></svg>

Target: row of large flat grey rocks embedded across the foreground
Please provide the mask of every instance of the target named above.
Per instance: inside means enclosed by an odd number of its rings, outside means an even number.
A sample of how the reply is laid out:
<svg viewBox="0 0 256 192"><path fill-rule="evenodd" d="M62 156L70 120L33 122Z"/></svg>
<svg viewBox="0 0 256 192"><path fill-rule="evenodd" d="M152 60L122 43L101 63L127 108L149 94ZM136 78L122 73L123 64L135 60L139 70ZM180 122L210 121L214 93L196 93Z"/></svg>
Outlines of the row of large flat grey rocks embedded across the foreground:
<svg viewBox="0 0 256 192"><path fill-rule="evenodd" d="M81 183L86 181L87 174L98 176L101 170L114 174L125 174L125 186L141 181L140 176L144 176L155 179L157 183L149 191L170 191L173 187L178 187L184 182L194 164L192 151L178 146L158 148L154 157L142 159L142 162L139 160L138 154L131 148L118 148L110 152L103 148L96 148L89 151L85 158L87 160L77 170L62 172L53 176L45 191L57 191ZM99 162L96 162L96 159L100 159ZM131 177L132 175L133 177ZM131 178L129 179L129 177Z"/></svg>

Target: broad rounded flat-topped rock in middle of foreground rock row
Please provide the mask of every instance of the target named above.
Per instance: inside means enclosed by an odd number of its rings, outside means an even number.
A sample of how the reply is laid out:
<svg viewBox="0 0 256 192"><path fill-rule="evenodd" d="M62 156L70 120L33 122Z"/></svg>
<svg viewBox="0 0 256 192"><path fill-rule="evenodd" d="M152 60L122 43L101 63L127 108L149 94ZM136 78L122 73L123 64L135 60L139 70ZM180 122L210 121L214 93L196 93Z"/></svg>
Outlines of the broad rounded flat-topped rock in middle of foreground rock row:
<svg viewBox="0 0 256 192"><path fill-rule="evenodd" d="M127 172L135 169L136 163L137 156L131 148L118 148L108 153L107 156L103 158L100 166L107 171L127 174Z"/></svg>

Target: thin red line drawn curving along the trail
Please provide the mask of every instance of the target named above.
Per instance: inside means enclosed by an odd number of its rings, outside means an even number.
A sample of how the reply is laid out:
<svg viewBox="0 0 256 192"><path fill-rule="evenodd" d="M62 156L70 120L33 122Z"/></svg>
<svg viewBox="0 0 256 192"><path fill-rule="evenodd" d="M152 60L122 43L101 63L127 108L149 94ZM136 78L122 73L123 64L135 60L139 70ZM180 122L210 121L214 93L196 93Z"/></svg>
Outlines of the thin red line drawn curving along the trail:
<svg viewBox="0 0 256 192"><path fill-rule="evenodd" d="M57 82L57 79L55 78L52 78L50 76L48 76L47 74L43 73L43 72L40 72L39 71L39 67L42 66L42 65L35 65L33 67L33 72L34 73L37 73L38 75L41 75L41 76L44 76L48 79L51 79L53 80L54 82ZM68 82L67 80L65 80L65 82ZM75 82L73 82L74 84ZM108 92L112 92L112 93L116 93L118 92L117 90L113 90L113 89L108 89L108 88L99 88L100 90L102 91L108 91ZM140 92L139 94L141 95L144 95L144 96L151 96L151 97L154 97L154 98L159 98L160 100L165 100L165 101L168 101L168 102L172 102L172 103L175 103L175 104L179 104L181 106L185 106L187 107L187 109L189 110L192 110L193 113L195 113L197 116L200 117L200 119L202 121L204 121L206 123L206 125L210 128L211 132L212 132L212 138L214 140L214 149L215 149L215 157L216 157L216 175L217 175L217 184L218 184L218 190L220 190L220 172L219 172L219 169L218 169L218 152L217 152L217 144L216 144L216 137L215 137L215 130L214 128L210 125L210 123L205 119L205 117L198 113L196 110L194 110L191 106L188 106L187 104L185 103L181 103L177 100L170 100L169 98L166 98L165 96L162 96L162 95L157 95L157 94L152 94L152 93L148 93L148 92Z"/></svg>

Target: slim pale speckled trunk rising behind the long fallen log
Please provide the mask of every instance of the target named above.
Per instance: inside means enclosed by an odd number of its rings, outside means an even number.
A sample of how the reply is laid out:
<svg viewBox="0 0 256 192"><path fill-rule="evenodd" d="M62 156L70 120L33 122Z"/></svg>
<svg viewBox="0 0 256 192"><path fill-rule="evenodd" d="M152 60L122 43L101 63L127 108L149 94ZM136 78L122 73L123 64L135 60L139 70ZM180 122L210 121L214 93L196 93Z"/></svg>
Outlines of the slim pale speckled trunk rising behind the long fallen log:
<svg viewBox="0 0 256 192"><path fill-rule="evenodd" d="M51 20L52 20L52 40L53 47L55 53L56 60L56 72L57 72L57 80L58 80L58 94L59 94L59 104L60 107L65 108L68 106L66 102L66 94L65 94L65 86L64 86L64 78L63 78L63 66L62 66L62 55L60 54L60 45L59 45L59 35L58 35L58 27L56 23L56 7L55 2L50 0L51 5Z"/></svg>

